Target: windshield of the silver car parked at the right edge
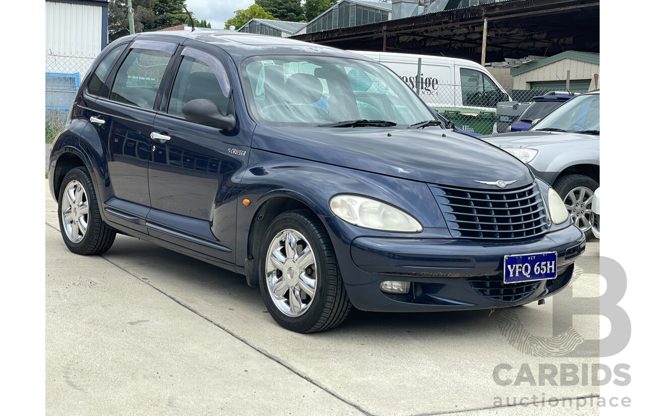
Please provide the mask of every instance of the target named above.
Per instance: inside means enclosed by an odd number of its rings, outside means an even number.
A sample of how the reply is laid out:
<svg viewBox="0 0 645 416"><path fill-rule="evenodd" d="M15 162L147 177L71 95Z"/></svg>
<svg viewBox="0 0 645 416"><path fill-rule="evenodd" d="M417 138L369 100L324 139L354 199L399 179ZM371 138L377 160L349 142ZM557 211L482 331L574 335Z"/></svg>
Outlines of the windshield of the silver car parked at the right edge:
<svg viewBox="0 0 645 416"><path fill-rule="evenodd" d="M529 130L557 129L566 132L600 132L600 94L578 95L546 115Z"/></svg>

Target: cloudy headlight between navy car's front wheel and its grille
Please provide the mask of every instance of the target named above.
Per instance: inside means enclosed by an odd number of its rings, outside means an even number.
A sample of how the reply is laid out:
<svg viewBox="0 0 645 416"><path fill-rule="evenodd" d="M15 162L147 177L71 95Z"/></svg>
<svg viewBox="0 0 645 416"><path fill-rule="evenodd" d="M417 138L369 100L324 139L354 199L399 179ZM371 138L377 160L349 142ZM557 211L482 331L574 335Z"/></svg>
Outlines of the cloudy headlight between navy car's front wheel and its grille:
<svg viewBox="0 0 645 416"><path fill-rule="evenodd" d="M417 233L419 221L392 205L357 195L336 195L329 201L332 212L347 223L372 230Z"/></svg>

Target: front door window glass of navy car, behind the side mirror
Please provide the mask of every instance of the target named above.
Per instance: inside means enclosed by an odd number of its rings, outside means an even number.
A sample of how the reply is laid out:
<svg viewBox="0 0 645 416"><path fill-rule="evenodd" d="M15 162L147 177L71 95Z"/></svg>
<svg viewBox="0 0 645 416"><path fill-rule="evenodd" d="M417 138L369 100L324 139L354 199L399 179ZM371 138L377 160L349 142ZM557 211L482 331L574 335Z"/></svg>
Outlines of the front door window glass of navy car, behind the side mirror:
<svg viewBox="0 0 645 416"><path fill-rule="evenodd" d="M210 55L202 55L195 50L184 54L170 93L168 114L183 117L181 110L184 104L194 99L205 98L217 104L217 108L226 115L230 101L230 84L223 71L222 64ZM221 85L220 80L226 84ZM228 94L225 94L224 90L227 90Z"/></svg>

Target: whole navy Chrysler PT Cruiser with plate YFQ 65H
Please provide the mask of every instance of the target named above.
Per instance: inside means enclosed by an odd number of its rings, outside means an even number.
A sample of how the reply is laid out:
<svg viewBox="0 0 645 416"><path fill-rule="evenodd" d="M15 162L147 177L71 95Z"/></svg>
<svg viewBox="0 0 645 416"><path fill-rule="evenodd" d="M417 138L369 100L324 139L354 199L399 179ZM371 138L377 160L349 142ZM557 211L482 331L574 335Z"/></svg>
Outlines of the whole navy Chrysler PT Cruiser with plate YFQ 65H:
<svg viewBox="0 0 645 416"><path fill-rule="evenodd" d="M585 245L525 164L444 128L386 67L277 37L114 41L49 172L72 252L103 253L118 232L216 264L297 332L352 305L537 301L570 282Z"/></svg>

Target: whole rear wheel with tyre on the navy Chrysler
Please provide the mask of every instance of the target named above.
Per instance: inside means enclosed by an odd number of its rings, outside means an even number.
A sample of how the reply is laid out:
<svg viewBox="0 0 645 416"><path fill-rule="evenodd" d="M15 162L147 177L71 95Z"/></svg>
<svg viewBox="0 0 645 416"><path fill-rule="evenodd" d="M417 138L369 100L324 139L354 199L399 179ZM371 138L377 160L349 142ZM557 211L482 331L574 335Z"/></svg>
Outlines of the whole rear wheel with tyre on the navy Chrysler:
<svg viewBox="0 0 645 416"><path fill-rule="evenodd" d="M110 249L116 232L101 219L94 185L86 168L65 175L58 196L58 223L67 248L81 255L101 254Z"/></svg>

